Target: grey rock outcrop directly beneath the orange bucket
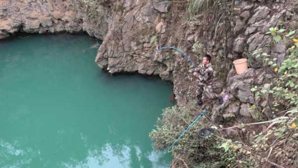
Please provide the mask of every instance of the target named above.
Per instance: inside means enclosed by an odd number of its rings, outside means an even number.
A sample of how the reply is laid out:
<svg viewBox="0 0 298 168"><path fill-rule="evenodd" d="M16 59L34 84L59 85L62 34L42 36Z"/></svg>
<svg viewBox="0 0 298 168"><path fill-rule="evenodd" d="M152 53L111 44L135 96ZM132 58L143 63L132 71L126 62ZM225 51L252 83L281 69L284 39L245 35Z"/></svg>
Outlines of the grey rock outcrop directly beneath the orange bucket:
<svg viewBox="0 0 298 168"><path fill-rule="evenodd" d="M270 74L266 68L248 68L240 75L237 75L235 70L231 69L227 76L227 92L231 94L232 97L236 98L236 100L228 100L222 106L224 119L228 120L227 116L230 115L238 117L238 120L243 120L243 116L252 118L254 117L253 110L250 110L252 105L264 109L263 112L266 117L272 118L274 114L270 108L268 108L271 98L268 91L273 77L274 76ZM254 86L264 86L267 93L265 93L264 96L255 96L251 91L251 88ZM261 109L259 110L261 111Z"/></svg>

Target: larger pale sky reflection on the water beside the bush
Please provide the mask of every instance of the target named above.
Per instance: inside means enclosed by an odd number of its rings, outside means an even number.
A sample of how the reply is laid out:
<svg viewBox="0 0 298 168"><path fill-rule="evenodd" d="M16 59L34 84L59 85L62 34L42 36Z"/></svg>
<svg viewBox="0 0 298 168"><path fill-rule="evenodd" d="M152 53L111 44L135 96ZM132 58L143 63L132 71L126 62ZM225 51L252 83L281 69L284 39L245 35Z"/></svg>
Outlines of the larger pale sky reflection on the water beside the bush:
<svg viewBox="0 0 298 168"><path fill-rule="evenodd" d="M121 151L115 152L110 144L106 144L102 149L88 151L87 157L83 161L63 163L66 168L132 168L139 165L139 168L146 168L144 159L146 158L152 168L165 168L168 163L161 163L160 158L164 154L157 151L144 153L138 146L123 146ZM142 158L142 159L141 159ZM137 162L137 163L136 163Z"/></svg>

